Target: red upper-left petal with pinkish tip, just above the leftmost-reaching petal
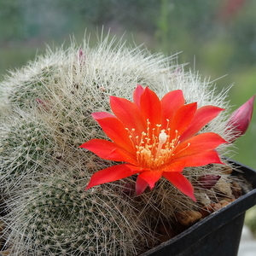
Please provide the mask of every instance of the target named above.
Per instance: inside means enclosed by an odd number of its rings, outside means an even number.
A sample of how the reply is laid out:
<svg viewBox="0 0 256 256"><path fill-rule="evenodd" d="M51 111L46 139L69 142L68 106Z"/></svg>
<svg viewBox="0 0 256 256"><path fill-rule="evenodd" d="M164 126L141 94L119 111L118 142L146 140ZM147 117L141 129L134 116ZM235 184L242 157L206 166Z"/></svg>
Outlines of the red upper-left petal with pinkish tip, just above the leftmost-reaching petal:
<svg viewBox="0 0 256 256"><path fill-rule="evenodd" d="M125 148L126 151L133 153L134 146L131 143L130 133L125 129L125 126L116 117L99 118L98 115L94 115L94 119L101 125L102 130L106 135L121 148Z"/></svg>

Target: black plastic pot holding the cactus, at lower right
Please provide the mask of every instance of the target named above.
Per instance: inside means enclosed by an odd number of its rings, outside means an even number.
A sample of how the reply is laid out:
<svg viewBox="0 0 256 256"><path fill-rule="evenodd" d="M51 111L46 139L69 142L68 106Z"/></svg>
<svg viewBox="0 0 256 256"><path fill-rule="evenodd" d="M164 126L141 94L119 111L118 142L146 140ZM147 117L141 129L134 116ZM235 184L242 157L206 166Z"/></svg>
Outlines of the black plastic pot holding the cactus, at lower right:
<svg viewBox="0 0 256 256"><path fill-rule="evenodd" d="M253 190L141 256L237 255L245 211L256 204L256 171L230 161L241 171L234 175L241 175Z"/></svg>

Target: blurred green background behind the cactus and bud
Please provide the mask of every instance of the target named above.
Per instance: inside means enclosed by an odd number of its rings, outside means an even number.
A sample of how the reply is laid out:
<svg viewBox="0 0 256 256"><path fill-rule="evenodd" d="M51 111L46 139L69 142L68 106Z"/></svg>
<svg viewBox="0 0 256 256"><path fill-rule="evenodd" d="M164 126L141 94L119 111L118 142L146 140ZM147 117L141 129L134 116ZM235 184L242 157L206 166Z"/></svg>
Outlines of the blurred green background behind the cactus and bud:
<svg viewBox="0 0 256 256"><path fill-rule="evenodd" d="M80 43L85 30L93 44L102 26L152 52L181 52L179 62L216 80L219 91L234 84L234 110L256 93L254 0L0 0L0 81L45 44L68 45L73 35ZM255 131L254 113L233 159L256 169Z"/></svg>

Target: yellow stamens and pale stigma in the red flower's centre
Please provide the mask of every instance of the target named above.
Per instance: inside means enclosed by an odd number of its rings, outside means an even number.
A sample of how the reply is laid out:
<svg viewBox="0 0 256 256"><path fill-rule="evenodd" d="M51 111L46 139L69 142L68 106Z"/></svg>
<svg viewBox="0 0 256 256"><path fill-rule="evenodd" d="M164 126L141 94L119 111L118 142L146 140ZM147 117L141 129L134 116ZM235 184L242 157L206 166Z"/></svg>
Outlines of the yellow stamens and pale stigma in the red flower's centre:
<svg viewBox="0 0 256 256"><path fill-rule="evenodd" d="M130 138L137 150L137 161L144 168L152 170L168 164L174 149L180 143L178 131L175 131L176 136L171 138L170 128L160 128L161 125L151 128L148 121L147 131L143 131L140 137L133 137L131 133Z"/></svg>

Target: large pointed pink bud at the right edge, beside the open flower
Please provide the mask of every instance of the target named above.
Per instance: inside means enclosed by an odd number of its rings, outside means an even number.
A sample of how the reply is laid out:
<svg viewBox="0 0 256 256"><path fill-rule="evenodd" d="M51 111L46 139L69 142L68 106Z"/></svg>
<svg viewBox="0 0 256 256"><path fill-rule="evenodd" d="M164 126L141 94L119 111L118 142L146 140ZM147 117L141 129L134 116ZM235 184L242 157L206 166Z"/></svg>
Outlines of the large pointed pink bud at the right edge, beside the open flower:
<svg viewBox="0 0 256 256"><path fill-rule="evenodd" d="M247 131L253 115L253 102L255 96L256 95L252 96L231 114L227 129L234 132L234 137L230 143L233 143L236 138L241 137L241 135Z"/></svg>

